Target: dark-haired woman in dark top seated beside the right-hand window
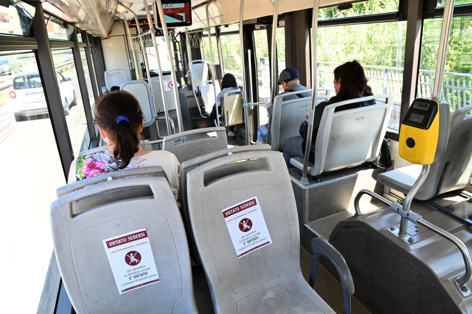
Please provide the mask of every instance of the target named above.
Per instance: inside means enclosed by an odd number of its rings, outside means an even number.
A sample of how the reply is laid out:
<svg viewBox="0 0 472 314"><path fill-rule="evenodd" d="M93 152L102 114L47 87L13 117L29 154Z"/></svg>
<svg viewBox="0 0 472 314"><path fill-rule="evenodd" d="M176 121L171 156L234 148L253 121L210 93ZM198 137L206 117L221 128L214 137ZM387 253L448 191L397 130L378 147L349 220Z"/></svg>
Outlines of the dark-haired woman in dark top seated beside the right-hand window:
<svg viewBox="0 0 472 314"><path fill-rule="evenodd" d="M349 61L339 65L334 69L334 89L336 96L331 97L329 101L324 101L315 106L315 113L313 119L313 135L310 149L310 162L315 161L315 141L320 126L321 117L323 115L324 107L338 103L344 100L355 99L365 96L371 96L372 89L367 85L364 69L362 65L356 60ZM375 101L361 102L349 104L336 108L337 111L359 108L375 104ZM294 157L303 157L305 155L306 136L308 133L308 123L305 121L300 125L300 136L295 136L288 139L284 145L283 156L287 168L293 168L290 164L290 159Z"/></svg>

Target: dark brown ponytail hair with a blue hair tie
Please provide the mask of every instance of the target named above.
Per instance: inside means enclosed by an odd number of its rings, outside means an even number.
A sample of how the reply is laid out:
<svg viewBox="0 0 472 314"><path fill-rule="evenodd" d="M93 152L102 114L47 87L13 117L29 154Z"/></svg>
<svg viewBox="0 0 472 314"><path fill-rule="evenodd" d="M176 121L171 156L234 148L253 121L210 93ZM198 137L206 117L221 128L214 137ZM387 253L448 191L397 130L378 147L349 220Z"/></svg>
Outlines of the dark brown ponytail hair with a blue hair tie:
<svg viewBox="0 0 472 314"><path fill-rule="evenodd" d="M143 112L138 100L126 91L105 94L95 105L95 121L115 144L113 155L120 161L118 169L126 168L139 150Z"/></svg>

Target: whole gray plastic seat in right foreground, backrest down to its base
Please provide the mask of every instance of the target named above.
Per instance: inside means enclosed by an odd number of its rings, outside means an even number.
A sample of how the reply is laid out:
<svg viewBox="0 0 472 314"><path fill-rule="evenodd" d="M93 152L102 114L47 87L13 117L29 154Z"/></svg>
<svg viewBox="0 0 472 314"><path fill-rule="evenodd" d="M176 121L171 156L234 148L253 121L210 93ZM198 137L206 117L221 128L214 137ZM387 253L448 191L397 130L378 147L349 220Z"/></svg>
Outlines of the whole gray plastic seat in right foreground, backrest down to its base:
<svg viewBox="0 0 472 314"><path fill-rule="evenodd" d="M302 276L295 197L280 152L251 151L210 161L187 173L187 191L215 313L334 313ZM251 216L251 232L272 243L257 244L238 258L223 211L256 197L260 209L248 213L263 218Z"/></svg>

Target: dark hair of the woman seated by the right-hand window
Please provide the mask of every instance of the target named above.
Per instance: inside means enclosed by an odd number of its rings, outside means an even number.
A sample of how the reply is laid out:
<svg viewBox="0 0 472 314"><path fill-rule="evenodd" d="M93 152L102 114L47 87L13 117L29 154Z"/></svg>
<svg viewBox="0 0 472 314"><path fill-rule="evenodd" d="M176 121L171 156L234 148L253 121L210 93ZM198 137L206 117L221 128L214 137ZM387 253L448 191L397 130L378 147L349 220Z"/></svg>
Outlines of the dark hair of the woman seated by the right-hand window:
<svg viewBox="0 0 472 314"><path fill-rule="evenodd" d="M364 69L356 60L339 65L334 69L334 79L341 81L341 89L336 96L329 101L340 102L343 100L372 95L372 89L367 85Z"/></svg>

